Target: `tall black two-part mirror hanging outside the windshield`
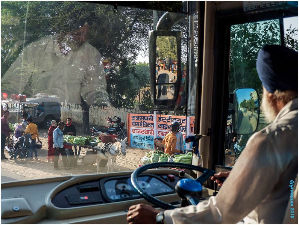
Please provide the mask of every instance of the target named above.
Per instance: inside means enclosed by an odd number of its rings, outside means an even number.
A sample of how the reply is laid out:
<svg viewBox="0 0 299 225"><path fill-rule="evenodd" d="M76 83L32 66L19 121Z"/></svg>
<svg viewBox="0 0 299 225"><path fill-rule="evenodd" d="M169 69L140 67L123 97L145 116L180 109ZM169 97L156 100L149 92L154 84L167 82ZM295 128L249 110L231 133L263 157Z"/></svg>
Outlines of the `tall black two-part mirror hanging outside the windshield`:
<svg viewBox="0 0 299 225"><path fill-rule="evenodd" d="M152 102L173 105L181 84L182 31L149 31L148 37Z"/></svg>

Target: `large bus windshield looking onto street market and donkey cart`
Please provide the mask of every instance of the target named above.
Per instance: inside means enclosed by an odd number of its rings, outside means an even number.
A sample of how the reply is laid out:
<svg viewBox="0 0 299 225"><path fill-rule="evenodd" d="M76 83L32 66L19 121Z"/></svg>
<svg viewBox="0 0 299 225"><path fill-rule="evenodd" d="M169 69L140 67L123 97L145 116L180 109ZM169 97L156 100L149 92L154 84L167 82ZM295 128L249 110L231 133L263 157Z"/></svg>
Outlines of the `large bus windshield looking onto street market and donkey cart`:
<svg viewBox="0 0 299 225"><path fill-rule="evenodd" d="M18 101L41 99L38 106L20 108L23 112L9 117L12 124L37 125L28 146L33 160L24 167L4 150L11 160L2 161L1 175L39 179L134 170L159 161L154 154L164 151L162 139L173 121L180 124L176 149L191 150L184 139L194 132L198 13L171 28L182 31L179 100L173 108L153 105L148 32L165 8L183 13L182 2L159 4L149 2L152 10L80 1L1 1L1 92ZM169 74L171 82L176 56L167 49L171 39L160 43L164 50L157 69ZM31 125L26 124L29 117ZM6 142L10 149L13 132L14 127ZM38 141L42 147L37 149ZM105 148L107 143L113 146ZM160 152L167 160L162 156Z"/></svg>

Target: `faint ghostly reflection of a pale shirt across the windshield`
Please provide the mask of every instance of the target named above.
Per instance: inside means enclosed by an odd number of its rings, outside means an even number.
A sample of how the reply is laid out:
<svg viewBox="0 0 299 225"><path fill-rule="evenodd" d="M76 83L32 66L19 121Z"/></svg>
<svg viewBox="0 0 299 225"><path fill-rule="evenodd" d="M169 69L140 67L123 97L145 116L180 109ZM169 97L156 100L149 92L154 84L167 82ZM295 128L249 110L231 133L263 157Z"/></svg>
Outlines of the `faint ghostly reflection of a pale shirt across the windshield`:
<svg viewBox="0 0 299 225"><path fill-rule="evenodd" d="M81 101L81 95L89 105L107 96L99 51L84 43L79 49L63 55L56 35L26 46L1 78L1 89L30 96L33 92L45 92L66 99L75 98L77 102Z"/></svg>

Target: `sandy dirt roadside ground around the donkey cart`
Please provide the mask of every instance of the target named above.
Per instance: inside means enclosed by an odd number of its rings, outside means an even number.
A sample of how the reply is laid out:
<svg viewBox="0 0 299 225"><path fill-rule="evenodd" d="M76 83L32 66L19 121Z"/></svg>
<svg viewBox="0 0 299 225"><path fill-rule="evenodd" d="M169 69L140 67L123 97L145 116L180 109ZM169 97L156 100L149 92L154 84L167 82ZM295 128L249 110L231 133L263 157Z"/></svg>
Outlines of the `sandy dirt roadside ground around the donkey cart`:
<svg viewBox="0 0 299 225"><path fill-rule="evenodd" d="M40 179L47 177L78 175L86 173L96 173L96 164L84 165L81 164L81 160L78 160L78 165L72 167L70 170L54 170L54 162L47 162L48 154L48 135L47 129L39 129L40 141L43 143L43 148L37 150L38 161L28 161L26 164L16 164L14 160L1 161L1 174L5 170L7 173L18 174L24 179ZM77 136L80 136L80 130L77 130ZM74 150L74 147L73 147ZM140 159L144 156L145 152L150 150L143 150L139 148L127 147L128 153L126 156L117 156L116 164L114 164L113 172L135 170L142 164ZM86 149L82 148L80 156L85 155ZM8 158L8 152L4 150L4 154ZM61 157L61 156L60 156ZM58 167L62 168L62 161L59 160ZM108 164L106 167L100 167L100 173L106 173L108 170Z"/></svg>

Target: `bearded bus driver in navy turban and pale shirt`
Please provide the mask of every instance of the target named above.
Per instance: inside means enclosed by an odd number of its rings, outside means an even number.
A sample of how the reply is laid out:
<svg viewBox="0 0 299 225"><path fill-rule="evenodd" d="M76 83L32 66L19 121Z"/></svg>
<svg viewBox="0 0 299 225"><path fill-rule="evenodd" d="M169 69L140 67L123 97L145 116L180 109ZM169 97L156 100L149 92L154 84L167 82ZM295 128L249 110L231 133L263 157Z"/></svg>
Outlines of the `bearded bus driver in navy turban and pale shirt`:
<svg viewBox="0 0 299 225"><path fill-rule="evenodd" d="M249 224L283 223L298 175L298 52L264 46L256 69L263 85L261 108L272 123L249 138L217 196L160 213L134 205L127 214L130 224L236 224L242 219ZM219 173L214 176L212 180ZM298 223L296 213L287 216Z"/></svg>

